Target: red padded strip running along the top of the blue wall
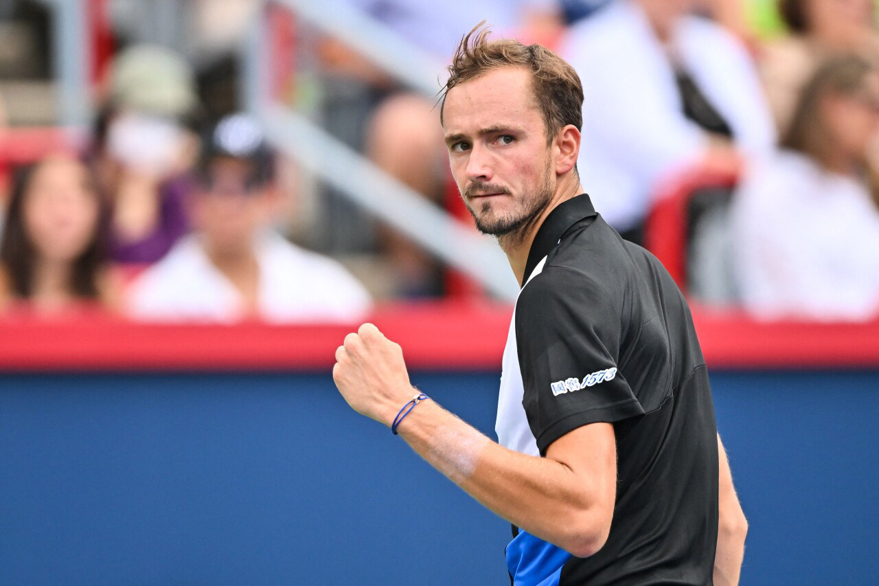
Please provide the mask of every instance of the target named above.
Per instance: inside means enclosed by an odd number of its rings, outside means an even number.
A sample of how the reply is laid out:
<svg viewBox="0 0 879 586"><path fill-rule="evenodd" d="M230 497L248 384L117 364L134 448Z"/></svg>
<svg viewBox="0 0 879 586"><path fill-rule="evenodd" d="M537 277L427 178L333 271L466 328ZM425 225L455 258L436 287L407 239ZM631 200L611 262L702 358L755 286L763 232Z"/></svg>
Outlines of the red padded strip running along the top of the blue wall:
<svg viewBox="0 0 879 586"><path fill-rule="evenodd" d="M879 321L765 324L693 308L712 368L879 368ZM500 370L512 307L382 306L370 318L413 369ZM327 370L351 326L140 325L105 315L0 319L0 370Z"/></svg>

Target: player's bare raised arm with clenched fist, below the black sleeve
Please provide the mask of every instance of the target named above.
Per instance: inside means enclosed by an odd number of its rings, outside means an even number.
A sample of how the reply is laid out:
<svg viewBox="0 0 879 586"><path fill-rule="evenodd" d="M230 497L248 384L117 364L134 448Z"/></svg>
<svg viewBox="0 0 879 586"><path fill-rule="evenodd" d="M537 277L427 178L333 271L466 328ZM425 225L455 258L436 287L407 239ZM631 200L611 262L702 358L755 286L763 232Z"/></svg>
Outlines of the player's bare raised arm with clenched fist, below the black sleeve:
<svg viewBox="0 0 879 586"><path fill-rule="evenodd" d="M385 425L415 395L402 348L372 324L345 336L336 361L333 380L348 404ZM431 400L407 413L400 435L499 516L578 557L604 545L616 490L612 425L570 430L538 458L502 448Z"/></svg>

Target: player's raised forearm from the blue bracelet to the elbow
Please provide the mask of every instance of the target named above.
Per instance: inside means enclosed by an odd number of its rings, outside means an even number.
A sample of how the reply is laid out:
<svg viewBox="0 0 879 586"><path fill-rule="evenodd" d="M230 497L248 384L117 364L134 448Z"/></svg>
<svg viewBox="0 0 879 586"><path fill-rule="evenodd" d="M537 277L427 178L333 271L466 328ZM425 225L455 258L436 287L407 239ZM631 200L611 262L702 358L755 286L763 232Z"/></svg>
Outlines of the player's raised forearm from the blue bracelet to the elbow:
<svg viewBox="0 0 879 586"><path fill-rule="evenodd" d="M589 530L602 526L592 518L601 513L590 498L599 491L589 485L607 479L586 479L554 459L507 450L431 401L418 405L398 430L439 472L534 536L580 557L607 538Z"/></svg>

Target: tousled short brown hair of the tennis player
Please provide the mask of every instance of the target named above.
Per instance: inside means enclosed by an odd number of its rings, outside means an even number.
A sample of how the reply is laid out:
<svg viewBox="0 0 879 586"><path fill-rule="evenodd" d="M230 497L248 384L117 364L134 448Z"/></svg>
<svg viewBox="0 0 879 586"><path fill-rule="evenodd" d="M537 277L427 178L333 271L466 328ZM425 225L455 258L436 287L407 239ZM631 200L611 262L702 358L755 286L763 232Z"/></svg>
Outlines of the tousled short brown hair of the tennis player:
<svg viewBox="0 0 879 586"><path fill-rule="evenodd" d="M583 84L577 71L542 45L523 45L518 40L488 40L485 21L464 35L448 67L449 77L442 93L439 121L449 90L498 67L522 67L531 71L534 99L546 122L547 141L571 124L583 128Z"/></svg>

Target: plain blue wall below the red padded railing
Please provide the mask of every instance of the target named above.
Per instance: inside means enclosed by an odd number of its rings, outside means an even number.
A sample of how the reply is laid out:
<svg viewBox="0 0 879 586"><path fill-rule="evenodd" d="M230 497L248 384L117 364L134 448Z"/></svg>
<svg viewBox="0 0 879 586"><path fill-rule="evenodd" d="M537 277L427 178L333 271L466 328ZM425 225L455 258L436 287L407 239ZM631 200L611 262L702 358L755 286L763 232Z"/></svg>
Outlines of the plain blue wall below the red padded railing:
<svg viewBox="0 0 879 586"><path fill-rule="evenodd" d="M483 431L498 376L416 373ZM879 575L879 372L716 372L743 584ZM0 582L508 584L509 528L327 374L0 377Z"/></svg>

